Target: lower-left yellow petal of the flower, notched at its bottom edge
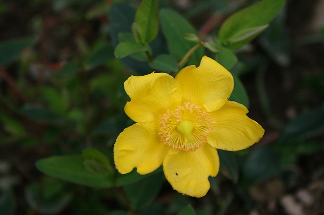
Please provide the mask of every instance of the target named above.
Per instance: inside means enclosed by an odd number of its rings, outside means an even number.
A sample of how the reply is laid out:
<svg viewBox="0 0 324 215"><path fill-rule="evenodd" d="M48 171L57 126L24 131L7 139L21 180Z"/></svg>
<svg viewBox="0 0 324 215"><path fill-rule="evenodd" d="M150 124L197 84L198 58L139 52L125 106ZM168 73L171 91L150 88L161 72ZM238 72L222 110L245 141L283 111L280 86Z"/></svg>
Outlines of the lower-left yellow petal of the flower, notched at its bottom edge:
<svg viewBox="0 0 324 215"><path fill-rule="evenodd" d="M121 174L135 167L139 174L151 173L162 165L169 150L160 144L158 126L134 124L117 137L113 149L116 169Z"/></svg>

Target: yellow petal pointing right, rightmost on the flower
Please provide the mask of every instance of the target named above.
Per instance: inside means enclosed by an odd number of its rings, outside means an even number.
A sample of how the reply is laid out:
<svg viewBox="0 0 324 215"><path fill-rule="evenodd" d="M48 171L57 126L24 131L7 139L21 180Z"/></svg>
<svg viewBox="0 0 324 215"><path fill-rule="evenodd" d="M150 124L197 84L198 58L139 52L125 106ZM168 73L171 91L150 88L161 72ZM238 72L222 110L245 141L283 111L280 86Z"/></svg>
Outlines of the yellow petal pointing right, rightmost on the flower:
<svg viewBox="0 0 324 215"><path fill-rule="evenodd" d="M227 101L221 109L212 112L216 122L208 143L218 149L237 151L258 142L264 129L246 114L248 109L235 101Z"/></svg>

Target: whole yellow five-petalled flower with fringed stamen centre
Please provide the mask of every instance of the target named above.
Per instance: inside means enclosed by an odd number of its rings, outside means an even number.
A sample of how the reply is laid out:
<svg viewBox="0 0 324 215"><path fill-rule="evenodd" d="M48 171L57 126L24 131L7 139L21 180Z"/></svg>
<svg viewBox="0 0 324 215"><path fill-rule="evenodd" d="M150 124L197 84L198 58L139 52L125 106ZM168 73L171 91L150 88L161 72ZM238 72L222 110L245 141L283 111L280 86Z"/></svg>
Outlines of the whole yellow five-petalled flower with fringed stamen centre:
<svg viewBox="0 0 324 215"><path fill-rule="evenodd" d="M121 174L134 168L148 174L163 165L175 190L202 197L210 189L208 177L219 171L216 149L245 149L264 134L244 105L227 100L234 87L230 72L206 56L175 78L151 73L131 76L124 85L131 98L125 112L136 123L114 145Z"/></svg>

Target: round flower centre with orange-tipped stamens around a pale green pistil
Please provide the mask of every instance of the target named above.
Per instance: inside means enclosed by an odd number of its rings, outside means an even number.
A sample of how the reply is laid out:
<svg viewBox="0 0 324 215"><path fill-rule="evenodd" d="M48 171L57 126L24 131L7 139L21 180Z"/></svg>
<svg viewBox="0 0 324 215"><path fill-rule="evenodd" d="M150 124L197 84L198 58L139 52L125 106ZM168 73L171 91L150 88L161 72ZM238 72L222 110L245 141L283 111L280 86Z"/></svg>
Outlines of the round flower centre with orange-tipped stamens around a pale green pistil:
<svg viewBox="0 0 324 215"><path fill-rule="evenodd" d="M159 118L161 144L186 152L204 145L215 123L209 113L190 101L177 106L174 111L168 110Z"/></svg>

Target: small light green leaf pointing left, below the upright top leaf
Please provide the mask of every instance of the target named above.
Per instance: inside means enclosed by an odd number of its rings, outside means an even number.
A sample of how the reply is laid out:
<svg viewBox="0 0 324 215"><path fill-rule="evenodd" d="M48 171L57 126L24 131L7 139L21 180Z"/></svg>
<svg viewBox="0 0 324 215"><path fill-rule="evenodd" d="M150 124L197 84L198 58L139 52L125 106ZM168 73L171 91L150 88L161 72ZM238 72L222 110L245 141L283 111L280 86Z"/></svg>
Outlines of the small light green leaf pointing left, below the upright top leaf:
<svg viewBox="0 0 324 215"><path fill-rule="evenodd" d="M133 53L148 51L147 46L143 46L137 42L120 42L115 49L116 58L125 58Z"/></svg>

